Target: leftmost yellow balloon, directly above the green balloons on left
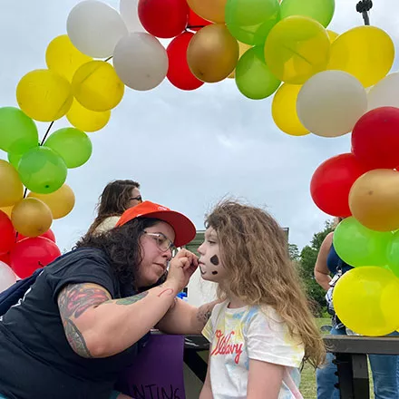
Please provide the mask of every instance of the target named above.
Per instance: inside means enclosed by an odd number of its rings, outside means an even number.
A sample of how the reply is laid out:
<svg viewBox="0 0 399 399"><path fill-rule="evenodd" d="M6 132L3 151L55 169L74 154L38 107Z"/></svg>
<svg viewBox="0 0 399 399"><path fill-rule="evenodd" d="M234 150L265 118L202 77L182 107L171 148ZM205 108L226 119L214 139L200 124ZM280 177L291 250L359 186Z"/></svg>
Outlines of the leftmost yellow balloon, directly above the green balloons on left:
<svg viewBox="0 0 399 399"><path fill-rule="evenodd" d="M16 87L16 101L22 111L40 122L60 119L73 102L71 84L48 69L26 73Z"/></svg>

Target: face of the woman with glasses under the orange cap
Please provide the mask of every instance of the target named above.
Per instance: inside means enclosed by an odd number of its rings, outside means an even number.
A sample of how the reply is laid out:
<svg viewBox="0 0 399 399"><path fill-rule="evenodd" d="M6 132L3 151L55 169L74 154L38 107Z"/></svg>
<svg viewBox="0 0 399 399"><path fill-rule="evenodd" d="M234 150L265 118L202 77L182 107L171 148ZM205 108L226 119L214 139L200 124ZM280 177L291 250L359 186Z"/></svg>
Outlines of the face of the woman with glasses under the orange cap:
<svg viewBox="0 0 399 399"><path fill-rule="evenodd" d="M142 260L136 277L138 287L149 287L162 277L171 259L174 239L174 230L164 221L145 229L141 236Z"/></svg>

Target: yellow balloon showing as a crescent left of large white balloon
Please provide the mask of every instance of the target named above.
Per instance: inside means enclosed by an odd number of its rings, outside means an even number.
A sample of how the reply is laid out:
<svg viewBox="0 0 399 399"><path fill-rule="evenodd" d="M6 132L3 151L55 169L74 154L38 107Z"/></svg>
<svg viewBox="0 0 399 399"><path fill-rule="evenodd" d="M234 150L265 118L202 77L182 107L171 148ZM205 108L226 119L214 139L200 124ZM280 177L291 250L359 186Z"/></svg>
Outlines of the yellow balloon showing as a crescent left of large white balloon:
<svg viewBox="0 0 399 399"><path fill-rule="evenodd" d="M308 131L297 117L297 95L300 85L282 84L271 105L271 113L278 129L291 136L305 136Z"/></svg>

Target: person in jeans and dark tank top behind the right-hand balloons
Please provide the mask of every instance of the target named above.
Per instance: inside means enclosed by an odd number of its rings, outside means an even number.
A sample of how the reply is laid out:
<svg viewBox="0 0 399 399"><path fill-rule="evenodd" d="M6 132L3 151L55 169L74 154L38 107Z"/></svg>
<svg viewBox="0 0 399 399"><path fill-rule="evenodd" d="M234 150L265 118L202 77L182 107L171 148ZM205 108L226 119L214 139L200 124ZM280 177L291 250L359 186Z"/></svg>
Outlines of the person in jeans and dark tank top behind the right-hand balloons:
<svg viewBox="0 0 399 399"><path fill-rule="evenodd" d="M335 227L343 218L336 218ZM321 244L315 265L315 278L320 287L323 287L328 295L327 305L333 313L332 328L330 334L345 336L353 334L339 320L332 310L332 288L337 279L352 267L338 257L333 244L334 231L327 234ZM333 276L333 277L331 277ZM339 390L336 388L338 377L336 365L333 363L335 356L326 355L326 365L316 371L317 399L339 399ZM399 356L397 355L369 355L370 366L374 380L375 399L399 398Z"/></svg>

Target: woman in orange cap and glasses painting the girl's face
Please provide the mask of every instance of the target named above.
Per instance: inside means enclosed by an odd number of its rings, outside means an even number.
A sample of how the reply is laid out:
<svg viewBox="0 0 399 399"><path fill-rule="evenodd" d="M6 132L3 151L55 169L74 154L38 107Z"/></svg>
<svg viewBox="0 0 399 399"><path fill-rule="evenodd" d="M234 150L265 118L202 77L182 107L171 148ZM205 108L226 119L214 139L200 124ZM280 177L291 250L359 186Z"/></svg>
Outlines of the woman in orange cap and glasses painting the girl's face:
<svg viewBox="0 0 399 399"><path fill-rule="evenodd" d="M177 298L198 258L184 248L172 252L195 234L181 213L144 201L114 229L86 235L45 267L0 317L0 397L126 398L112 394L114 384L151 328L199 334L215 305Z"/></svg>

